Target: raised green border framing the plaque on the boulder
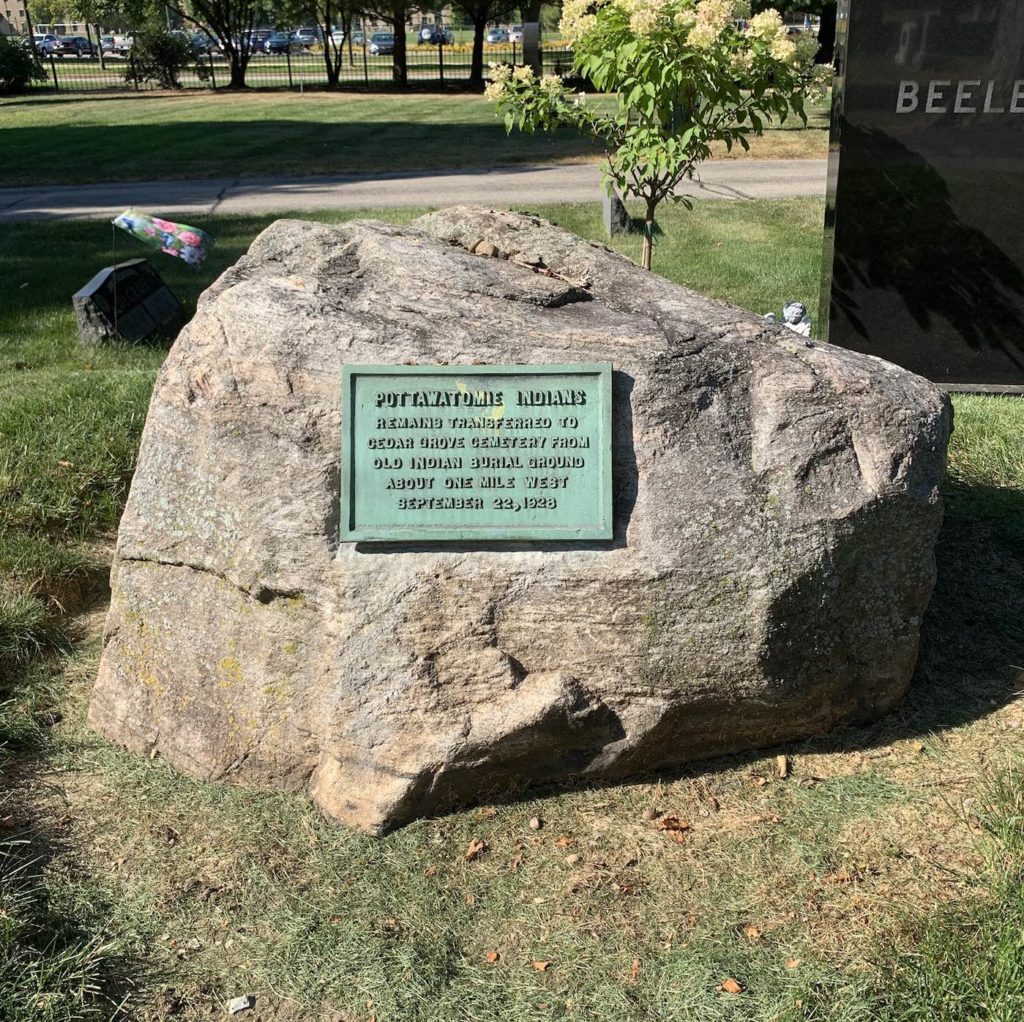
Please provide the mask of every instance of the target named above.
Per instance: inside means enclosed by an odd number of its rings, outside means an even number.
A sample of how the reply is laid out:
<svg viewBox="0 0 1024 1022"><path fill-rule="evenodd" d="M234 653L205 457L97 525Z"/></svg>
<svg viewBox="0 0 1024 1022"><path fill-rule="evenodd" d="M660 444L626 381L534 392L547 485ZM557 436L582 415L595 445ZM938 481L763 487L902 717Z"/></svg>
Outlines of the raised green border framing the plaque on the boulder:
<svg viewBox="0 0 1024 1022"><path fill-rule="evenodd" d="M355 425L355 380L359 376L567 376L599 377L600 421L600 505L595 515L596 525L538 528L536 525L514 528L493 525L421 526L418 528L353 528L355 458L350 437ZM342 543L472 543L474 541L529 543L552 541L611 540L614 538L611 496L611 363L573 363L562 365L505 366L344 366L341 371L341 520Z"/></svg>

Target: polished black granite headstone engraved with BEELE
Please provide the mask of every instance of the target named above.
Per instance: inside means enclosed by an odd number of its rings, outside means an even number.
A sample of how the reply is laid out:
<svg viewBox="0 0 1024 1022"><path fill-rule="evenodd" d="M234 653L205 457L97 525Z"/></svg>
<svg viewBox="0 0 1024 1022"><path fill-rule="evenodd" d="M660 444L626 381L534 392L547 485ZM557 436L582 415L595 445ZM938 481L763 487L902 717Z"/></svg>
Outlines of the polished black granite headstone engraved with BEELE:
<svg viewBox="0 0 1024 1022"><path fill-rule="evenodd" d="M1024 0L843 0L828 340L1024 387Z"/></svg>

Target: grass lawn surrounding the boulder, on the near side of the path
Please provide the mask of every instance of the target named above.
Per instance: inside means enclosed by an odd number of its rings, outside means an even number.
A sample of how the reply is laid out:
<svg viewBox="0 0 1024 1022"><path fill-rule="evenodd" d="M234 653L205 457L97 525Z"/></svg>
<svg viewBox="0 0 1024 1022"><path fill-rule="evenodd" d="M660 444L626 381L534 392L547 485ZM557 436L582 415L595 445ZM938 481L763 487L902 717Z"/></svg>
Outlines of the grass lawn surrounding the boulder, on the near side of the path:
<svg viewBox="0 0 1024 1022"><path fill-rule="evenodd" d="M600 237L592 208L540 212ZM757 311L813 305L821 215L812 200L672 211L655 268ZM202 274L160 268L191 302L266 222L211 218ZM90 222L0 236L5 1022L99 1022L124 998L142 1022L193 1022L250 990L264 1022L1024 1017L1024 402L955 399L939 584L914 684L885 720L375 841L84 725L164 355L78 347L68 296L108 245ZM687 843L652 808L689 820ZM472 838L489 850L467 861Z"/></svg>

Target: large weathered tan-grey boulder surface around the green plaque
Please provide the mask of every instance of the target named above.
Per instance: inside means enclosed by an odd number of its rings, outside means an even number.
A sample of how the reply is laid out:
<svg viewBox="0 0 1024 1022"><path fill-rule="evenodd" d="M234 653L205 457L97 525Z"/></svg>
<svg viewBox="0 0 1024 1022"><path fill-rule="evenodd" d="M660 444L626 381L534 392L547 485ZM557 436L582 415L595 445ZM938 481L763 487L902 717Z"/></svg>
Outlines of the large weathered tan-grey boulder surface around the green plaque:
<svg viewBox="0 0 1024 1022"><path fill-rule="evenodd" d="M344 364L603 360L613 542L339 546ZM280 221L160 373L90 720L376 832L864 720L914 665L949 429L925 380L529 216Z"/></svg>

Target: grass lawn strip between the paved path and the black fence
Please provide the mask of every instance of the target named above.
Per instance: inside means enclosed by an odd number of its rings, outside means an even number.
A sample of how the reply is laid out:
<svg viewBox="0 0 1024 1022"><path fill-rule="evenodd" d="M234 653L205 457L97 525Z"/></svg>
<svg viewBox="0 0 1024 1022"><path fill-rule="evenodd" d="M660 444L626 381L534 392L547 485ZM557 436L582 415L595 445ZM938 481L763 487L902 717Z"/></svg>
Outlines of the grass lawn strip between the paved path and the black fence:
<svg viewBox="0 0 1024 1022"><path fill-rule="evenodd" d="M750 156L824 157L823 108L811 111L809 125L769 130L754 141ZM0 100L0 186L440 170L599 157L592 143L568 131L507 136L493 105L478 95L42 95Z"/></svg>

